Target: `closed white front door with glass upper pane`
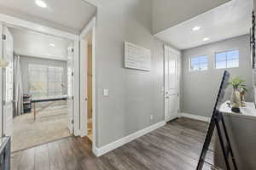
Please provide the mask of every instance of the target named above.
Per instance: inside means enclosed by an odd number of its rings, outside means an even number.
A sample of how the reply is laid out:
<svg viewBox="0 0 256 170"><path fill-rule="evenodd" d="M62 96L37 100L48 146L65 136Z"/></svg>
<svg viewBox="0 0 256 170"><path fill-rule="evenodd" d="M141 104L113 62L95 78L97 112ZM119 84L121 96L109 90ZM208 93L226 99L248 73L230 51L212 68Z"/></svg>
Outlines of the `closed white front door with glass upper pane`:
<svg viewBox="0 0 256 170"><path fill-rule="evenodd" d="M166 122L178 116L179 111L179 54L165 46L165 116Z"/></svg>

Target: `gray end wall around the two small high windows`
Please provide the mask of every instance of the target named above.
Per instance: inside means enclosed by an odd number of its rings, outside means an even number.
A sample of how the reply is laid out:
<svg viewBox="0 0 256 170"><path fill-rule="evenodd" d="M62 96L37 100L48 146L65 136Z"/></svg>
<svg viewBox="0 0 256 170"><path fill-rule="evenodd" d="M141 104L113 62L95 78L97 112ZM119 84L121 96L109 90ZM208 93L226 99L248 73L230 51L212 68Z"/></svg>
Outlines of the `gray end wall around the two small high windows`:
<svg viewBox="0 0 256 170"><path fill-rule="evenodd" d="M250 59L249 35L234 37L221 42L213 42L197 48L182 51L182 111L197 116L211 116L213 104L217 98L218 87L224 69L214 69L214 53L227 49L239 48L239 68L227 69L231 76L239 76L246 80L249 94L247 101L253 101L253 75ZM191 56L208 55L207 71L189 71L189 58ZM231 88L227 91L231 94Z"/></svg>

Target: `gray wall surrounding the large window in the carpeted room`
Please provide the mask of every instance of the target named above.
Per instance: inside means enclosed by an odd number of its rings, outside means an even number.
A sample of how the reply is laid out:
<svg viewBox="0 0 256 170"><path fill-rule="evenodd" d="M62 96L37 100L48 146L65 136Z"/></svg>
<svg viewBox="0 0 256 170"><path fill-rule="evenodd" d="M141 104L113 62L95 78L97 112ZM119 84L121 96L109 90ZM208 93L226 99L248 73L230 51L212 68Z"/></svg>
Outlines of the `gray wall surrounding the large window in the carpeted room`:
<svg viewBox="0 0 256 170"><path fill-rule="evenodd" d="M28 94L28 65L36 64L36 65L51 65L51 66L61 66L64 68L64 83L67 84L67 62L55 59L41 59L36 57L29 56L20 56L20 70L22 77L22 88L23 94Z"/></svg>

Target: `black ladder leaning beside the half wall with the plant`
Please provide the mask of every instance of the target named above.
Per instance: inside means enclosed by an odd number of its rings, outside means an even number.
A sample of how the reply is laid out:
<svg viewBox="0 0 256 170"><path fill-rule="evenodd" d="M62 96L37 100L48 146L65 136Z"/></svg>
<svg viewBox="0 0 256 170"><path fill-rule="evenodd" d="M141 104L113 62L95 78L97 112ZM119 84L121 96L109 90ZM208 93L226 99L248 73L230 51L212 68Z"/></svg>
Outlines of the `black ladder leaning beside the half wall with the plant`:
<svg viewBox="0 0 256 170"><path fill-rule="evenodd" d="M217 128L218 139L220 142L220 146L222 149L222 153L224 156L224 162L225 162L227 170L231 170L229 158L231 158L231 160L232 160L234 169L237 170L236 160L235 160L233 150L231 148L229 134L227 132L227 128L224 123L223 113L219 111L220 105L222 105L222 102L224 99L225 90L229 85L229 79L230 79L230 73L228 71L224 71L224 76L222 78L220 88L218 90L218 98L214 105L211 122L208 127L207 137L203 144L203 148L201 150L201 156L198 161L196 170L201 170L203 168L204 163L207 163L208 165L211 165L212 167L216 167L216 166L212 165L211 163L205 161L206 156L207 156L207 151L208 151L209 145L211 143L212 135L213 135L213 131L214 131L215 127ZM223 125L224 135L223 135L223 132L221 131L220 123L222 123L222 125ZM227 144L224 144L224 138L225 138L225 141Z"/></svg>

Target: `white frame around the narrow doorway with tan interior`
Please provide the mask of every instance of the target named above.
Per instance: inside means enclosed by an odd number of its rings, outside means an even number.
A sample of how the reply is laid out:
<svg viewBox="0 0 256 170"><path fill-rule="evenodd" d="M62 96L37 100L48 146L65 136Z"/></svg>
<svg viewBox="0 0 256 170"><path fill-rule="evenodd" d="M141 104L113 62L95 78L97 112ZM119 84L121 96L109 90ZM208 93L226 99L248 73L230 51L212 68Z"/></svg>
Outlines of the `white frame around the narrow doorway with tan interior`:
<svg viewBox="0 0 256 170"><path fill-rule="evenodd" d="M84 37L88 35L89 32L92 32L92 151L96 155L96 17L93 17L92 20L88 23L87 26L85 26L84 30L81 32L79 39L80 39L80 90L81 90L81 96L80 96L80 110L81 110L81 136L87 136L87 93L85 93L85 85L87 87L87 79L84 79L84 74L87 74L87 49L85 48L85 44L87 43L86 40L84 40ZM83 59L82 59L83 58Z"/></svg>

